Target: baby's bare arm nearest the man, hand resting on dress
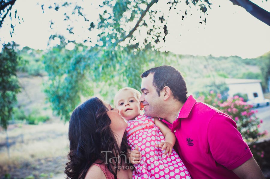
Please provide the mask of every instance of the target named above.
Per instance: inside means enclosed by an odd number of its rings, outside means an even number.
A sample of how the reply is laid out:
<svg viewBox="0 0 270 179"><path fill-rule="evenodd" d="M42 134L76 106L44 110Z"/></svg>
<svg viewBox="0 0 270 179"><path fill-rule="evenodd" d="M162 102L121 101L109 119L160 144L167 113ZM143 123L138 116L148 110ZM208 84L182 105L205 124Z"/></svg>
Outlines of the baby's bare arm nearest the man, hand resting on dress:
<svg viewBox="0 0 270 179"><path fill-rule="evenodd" d="M173 146L175 144L176 137L173 134L173 132L170 130L170 128L168 128L163 122L158 120L157 117L155 117L154 123L156 126L159 127L161 133L165 137L165 142L161 142L159 145L157 144L156 147L159 147L159 148L162 147L161 150L166 149L164 152L164 155L168 153L168 157L169 157L173 151Z"/></svg>

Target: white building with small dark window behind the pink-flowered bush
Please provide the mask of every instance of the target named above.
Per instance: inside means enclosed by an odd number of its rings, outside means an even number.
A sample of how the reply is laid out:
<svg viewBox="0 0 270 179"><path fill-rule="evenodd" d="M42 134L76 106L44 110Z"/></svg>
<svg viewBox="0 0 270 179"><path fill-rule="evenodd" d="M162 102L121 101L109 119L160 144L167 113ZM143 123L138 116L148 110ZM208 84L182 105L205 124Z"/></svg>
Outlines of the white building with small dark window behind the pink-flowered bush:
<svg viewBox="0 0 270 179"><path fill-rule="evenodd" d="M247 94L248 100L264 99L260 79L226 78L225 82L229 87L228 94L231 97L236 93L241 93Z"/></svg>

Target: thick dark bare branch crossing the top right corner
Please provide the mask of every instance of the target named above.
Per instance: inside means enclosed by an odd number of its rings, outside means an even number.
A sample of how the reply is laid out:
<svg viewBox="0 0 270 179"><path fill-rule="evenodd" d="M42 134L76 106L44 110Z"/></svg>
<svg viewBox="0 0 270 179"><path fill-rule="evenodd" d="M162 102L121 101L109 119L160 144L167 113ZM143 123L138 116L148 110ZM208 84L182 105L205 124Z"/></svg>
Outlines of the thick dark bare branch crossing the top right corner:
<svg viewBox="0 0 270 179"><path fill-rule="evenodd" d="M270 26L270 12L249 0L229 0L234 5L243 7L248 13Z"/></svg>

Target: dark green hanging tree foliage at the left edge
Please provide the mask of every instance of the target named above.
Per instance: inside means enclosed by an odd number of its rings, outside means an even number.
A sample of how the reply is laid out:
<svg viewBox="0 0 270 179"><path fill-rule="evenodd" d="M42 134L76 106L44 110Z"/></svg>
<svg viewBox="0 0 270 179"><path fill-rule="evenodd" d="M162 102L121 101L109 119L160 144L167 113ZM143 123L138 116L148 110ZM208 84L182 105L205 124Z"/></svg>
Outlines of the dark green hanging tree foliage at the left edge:
<svg viewBox="0 0 270 179"><path fill-rule="evenodd" d="M17 101L16 94L20 91L16 77L19 59L15 47L14 43L8 43L0 53L0 125L4 129L7 129L7 121L11 119L13 105Z"/></svg>

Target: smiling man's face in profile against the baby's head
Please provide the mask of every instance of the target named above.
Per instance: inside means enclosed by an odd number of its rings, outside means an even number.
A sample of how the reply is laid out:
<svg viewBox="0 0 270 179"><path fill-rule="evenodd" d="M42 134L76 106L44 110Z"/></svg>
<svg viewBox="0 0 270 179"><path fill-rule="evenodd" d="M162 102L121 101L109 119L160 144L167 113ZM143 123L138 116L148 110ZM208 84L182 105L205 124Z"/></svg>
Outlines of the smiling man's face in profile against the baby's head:
<svg viewBox="0 0 270 179"><path fill-rule="evenodd" d="M143 102L145 115L155 117L162 111L162 99L153 86L153 77L153 74L149 74L142 79L140 102Z"/></svg>

